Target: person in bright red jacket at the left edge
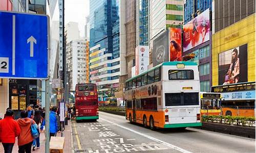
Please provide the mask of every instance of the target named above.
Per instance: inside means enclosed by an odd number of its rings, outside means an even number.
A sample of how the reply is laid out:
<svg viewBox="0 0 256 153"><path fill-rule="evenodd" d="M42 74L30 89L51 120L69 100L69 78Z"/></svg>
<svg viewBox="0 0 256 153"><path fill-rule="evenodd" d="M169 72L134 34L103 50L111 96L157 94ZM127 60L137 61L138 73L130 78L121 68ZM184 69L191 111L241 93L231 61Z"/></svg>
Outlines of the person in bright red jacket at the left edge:
<svg viewBox="0 0 256 153"><path fill-rule="evenodd" d="M0 139L5 153L11 153L15 143L15 137L20 135L18 123L13 119L13 110L8 109L5 118L0 121Z"/></svg>

